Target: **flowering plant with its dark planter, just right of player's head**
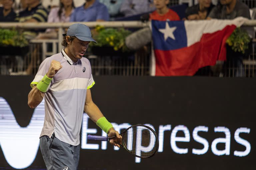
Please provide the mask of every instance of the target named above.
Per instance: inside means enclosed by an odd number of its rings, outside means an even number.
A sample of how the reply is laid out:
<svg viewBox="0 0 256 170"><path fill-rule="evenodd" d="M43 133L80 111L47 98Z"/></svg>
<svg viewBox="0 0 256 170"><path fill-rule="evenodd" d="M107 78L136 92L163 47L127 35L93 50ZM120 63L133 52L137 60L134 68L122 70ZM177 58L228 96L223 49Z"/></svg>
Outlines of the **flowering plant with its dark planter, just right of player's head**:
<svg viewBox="0 0 256 170"><path fill-rule="evenodd" d="M125 38L131 34L131 32L124 28L114 29L96 26L92 34L97 42L91 45L91 51L95 55L123 56L131 52L125 45Z"/></svg>

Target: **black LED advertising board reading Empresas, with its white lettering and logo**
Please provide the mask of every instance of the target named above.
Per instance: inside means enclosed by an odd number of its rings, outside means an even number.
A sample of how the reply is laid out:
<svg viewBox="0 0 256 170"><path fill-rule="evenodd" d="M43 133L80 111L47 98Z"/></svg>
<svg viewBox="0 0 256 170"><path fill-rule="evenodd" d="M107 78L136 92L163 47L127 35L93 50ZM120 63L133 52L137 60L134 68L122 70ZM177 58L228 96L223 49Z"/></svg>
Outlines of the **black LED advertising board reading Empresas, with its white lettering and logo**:
<svg viewBox="0 0 256 170"><path fill-rule="evenodd" d="M44 169L39 148L44 101L34 110L27 106L33 77L1 78L7 84L0 90L0 167ZM95 81L93 101L114 128L147 125L156 131L159 149L140 159L105 141L88 141L88 134L106 134L84 113L79 169L254 169L254 79L106 76ZM15 82L21 82L19 88Z"/></svg>

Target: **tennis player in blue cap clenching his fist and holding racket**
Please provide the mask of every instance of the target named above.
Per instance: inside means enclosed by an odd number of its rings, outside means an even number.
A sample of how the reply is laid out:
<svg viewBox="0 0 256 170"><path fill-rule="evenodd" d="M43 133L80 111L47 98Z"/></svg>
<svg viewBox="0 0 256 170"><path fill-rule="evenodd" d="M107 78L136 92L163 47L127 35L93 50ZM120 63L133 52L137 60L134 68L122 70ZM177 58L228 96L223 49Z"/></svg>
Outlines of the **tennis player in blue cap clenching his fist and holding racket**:
<svg viewBox="0 0 256 170"><path fill-rule="evenodd" d="M31 82L28 94L30 108L45 99L45 119L40 135L40 149L47 170L75 170L80 152L80 129L83 112L120 147L121 137L93 103L90 88L95 84L91 65L83 55L90 42L90 29L73 24L63 37L64 49L46 58Z"/></svg>

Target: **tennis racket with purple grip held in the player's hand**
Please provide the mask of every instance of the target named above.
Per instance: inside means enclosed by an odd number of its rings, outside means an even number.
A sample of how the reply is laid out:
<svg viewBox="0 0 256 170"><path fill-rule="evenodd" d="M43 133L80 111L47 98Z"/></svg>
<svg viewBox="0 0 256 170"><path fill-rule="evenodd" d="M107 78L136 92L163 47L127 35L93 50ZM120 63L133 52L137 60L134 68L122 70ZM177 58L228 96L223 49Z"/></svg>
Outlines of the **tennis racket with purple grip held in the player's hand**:
<svg viewBox="0 0 256 170"><path fill-rule="evenodd" d="M149 158L155 155L159 147L156 132L145 125L133 125L125 129L122 133L122 143L118 143L130 154L139 158ZM94 136L88 135L88 140L110 141L116 136Z"/></svg>

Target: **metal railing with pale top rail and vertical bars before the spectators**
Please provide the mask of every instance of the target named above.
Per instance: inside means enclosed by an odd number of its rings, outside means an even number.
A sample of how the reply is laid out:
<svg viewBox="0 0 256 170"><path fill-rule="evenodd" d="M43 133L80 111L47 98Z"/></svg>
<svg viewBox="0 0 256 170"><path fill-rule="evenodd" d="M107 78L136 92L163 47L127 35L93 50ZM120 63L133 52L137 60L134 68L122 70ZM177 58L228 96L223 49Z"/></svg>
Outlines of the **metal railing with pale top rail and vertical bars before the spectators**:
<svg viewBox="0 0 256 170"><path fill-rule="evenodd" d="M32 40L30 41L29 52L25 56L0 56L1 74L20 75L20 74L36 74L37 69L45 59L51 56L63 47L61 46L62 34L64 28L68 28L74 23L0 23L0 28L18 28L18 29L45 29L58 28L58 38L56 40ZM111 28L143 28L148 27L148 23L139 21L112 21L112 22L85 22L87 26L93 28L96 25ZM244 25L256 26L256 20L249 20ZM255 40L254 40L255 41ZM50 44L50 45L49 45ZM49 50L49 46L52 48ZM92 53L87 53L87 58L91 62L92 73L94 75L123 75L123 76L142 76L149 75L149 48L140 50L130 56L95 56ZM1 55L1 54L0 54ZM228 64L222 65L222 71L214 72L213 68L207 67L199 70L197 75L204 76L226 76L235 77L255 77L255 61L256 56L256 41L252 44L252 51L248 59L244 59L244 67L238 68L232 61L227 61Z"/></svg>

